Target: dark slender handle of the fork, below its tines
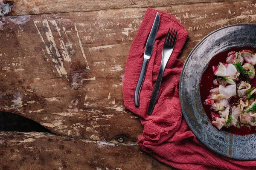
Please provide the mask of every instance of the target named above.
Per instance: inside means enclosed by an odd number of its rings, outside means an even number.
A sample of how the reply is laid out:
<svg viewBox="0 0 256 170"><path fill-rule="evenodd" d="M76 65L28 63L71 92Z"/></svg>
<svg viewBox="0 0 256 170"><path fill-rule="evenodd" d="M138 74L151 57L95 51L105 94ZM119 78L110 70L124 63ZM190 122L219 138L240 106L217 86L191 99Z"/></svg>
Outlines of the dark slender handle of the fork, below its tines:
<svg viewBox="0 0 256 170"><path fill-rule="evenodd" d="M154 106L155 106L156 101L157 101L157 96L158 96L158 93L159 93L159 90L160 90L160 85L161 85L162 78L163 78L164 68L165 68L165 64L162 62L161 66L160 66L158 76L157 76L157 81L154 85L154 89L153 89L151 99L150 99L150 102L149 102L148 116L152 115L152 112L154 110Z"/></svg>

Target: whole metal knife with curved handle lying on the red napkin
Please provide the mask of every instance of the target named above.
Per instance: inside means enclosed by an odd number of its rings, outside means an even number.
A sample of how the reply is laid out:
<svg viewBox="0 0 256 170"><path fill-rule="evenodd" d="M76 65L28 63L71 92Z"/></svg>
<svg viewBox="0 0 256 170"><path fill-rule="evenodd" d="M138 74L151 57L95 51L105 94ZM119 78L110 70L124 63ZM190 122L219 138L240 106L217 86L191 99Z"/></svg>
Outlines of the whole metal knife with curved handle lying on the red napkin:
<svg viewBox="0 0 256 170"><path fill-rule="evenodd" d="M147 40L147 44L146 44L146 48L144 51L144 57L143 57L143 64L142 64L142 68L140 71L140 77L135 89L135 94L134 94L134 103L135 106L139 106L140 105L140 89L141 86L143 84L143 80L145 77L145 73L146 73L146 69L147 69L147 65L148 65L148 60L150 59L152 52L153 52L153 48L154 48L154 42L157 36L157 30L158 30L158 26L159 26L159 22L160 22L160 16L157 12L157 15L155 17L154 20L154 24L151 28L150 34L148 36L148 40Z"/></svg>

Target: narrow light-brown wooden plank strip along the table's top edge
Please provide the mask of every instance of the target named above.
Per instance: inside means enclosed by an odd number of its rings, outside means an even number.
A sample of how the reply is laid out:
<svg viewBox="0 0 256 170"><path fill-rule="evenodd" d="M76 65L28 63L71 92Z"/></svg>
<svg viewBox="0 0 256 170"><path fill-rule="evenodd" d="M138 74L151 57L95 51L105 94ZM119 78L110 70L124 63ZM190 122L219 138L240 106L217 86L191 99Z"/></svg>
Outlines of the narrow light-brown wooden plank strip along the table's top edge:
<svg viewBox="0 0 256 170"><path fill-rule="evenodd" d="M175 4L235 1L239 0L13 0L13 10L10 15L98 11L113 8L164 7Z"/></svg>

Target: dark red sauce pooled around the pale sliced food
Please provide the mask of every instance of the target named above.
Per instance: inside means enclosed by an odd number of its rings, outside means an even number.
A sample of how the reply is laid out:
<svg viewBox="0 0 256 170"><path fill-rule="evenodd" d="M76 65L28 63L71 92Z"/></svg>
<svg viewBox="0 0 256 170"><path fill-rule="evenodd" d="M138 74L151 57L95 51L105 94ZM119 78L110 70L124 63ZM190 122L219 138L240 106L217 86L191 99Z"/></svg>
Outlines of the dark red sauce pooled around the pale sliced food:
<svg viewBox="0 0 256 170"><path fill-rule="evenodd" d="M213 84L213 80L216 79L216 76L213 74L212 71L212 66L219 64L219 62L223 62L226 63L226 59L227 59L227 54L230 51L236 51L239 52L243 49L248 49L251 50L253 52L256 51L255 48L252 47L242 47L242 48L231 48L228 51L224 51L222 53L219 53L217 55L215 55L214 57L212 57L212 59L209 62L209 65L207 67L207 69L204 71L202 77L201 77L201 82L200 82L200 93L201 93L201 101L202 101L202 105L204 108L205 113L207 114L207 117L209 118L209 120L212 122L212 117L211 117L211 109L209 107L209 105L204 105L204 101L207 99L207 96L209 96L209 91L212 88L217 88L218 85L214 85ZM240 77L239 77L239 81L240 81ZM241 79L242 80L242 79ZM256 87L256 78L250 80L250 84L252 85L252 87ZM230 105L232 105L233 103L237 103L239 101L240 97L239 96L234 96L230 99ZM252 134L256 132L256 128L253 126L247 127L245 126L247 124L241 124L240 128L238 127L234 127L231 126L229 128L226 127L222 127L221 130L224 130L225 132L228 133L233 133L233 134L237 134L237 135L248 135L248 134Z"/></svg>

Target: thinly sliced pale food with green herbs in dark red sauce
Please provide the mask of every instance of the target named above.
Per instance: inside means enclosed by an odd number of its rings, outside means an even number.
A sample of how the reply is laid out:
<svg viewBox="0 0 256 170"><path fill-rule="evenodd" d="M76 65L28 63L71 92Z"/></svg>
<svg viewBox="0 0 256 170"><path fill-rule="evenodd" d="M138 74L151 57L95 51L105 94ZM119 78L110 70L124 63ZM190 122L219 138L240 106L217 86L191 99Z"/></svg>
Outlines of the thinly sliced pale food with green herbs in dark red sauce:
<svg viewBox="0 0 256 170"><path fill-rule="evenodd" d="M232 48L212 57L201 77L201 100L219 130L246 135L256 127L256 54Z"/></svg>

